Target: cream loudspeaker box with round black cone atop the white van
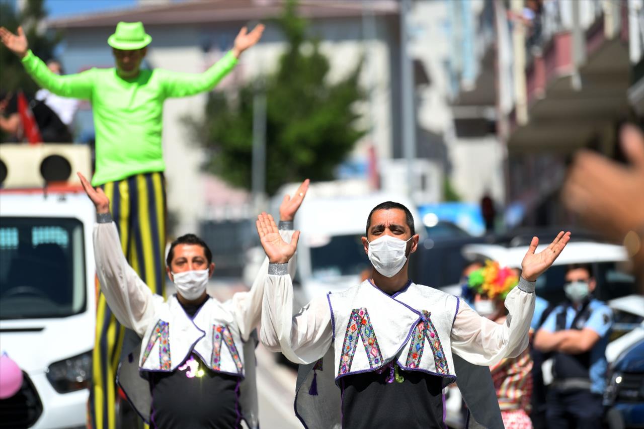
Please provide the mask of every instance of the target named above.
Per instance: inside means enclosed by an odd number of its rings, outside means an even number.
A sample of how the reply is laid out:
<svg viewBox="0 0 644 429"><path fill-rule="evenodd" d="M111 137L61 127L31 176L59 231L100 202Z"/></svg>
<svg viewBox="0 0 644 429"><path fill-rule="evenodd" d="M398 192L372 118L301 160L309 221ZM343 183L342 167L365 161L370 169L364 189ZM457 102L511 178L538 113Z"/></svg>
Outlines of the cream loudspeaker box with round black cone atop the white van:
<svg viewBox="0 0 644 429"><path fill-rule="evenodd" d="M0 145L0 186L43 187L52 182L80 185L76 172L90 178L91 151L83 144Z"/></svg>

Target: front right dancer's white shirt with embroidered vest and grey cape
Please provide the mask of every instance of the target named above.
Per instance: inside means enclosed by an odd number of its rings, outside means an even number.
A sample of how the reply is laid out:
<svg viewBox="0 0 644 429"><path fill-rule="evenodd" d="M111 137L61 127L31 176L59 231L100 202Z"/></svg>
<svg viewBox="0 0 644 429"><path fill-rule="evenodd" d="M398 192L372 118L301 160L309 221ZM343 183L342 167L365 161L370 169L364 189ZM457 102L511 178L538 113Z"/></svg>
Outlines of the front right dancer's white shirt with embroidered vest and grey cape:
<svg viewBox="0 0 644 429"><path fill-rule="evenodd" d="M504 324L479 316L455 296L411 281L390 296L366 280L315 298L293 315L286 271L286 265L269 267L260 337L271 350L301 364L296 414L305 426L339 427L335 386L343 377L388 366L393 376L397 366L439 376L442 386L457 381L478 423L503 427L488 367L527 347L534 283L522 279L509 292Z"/></svg>

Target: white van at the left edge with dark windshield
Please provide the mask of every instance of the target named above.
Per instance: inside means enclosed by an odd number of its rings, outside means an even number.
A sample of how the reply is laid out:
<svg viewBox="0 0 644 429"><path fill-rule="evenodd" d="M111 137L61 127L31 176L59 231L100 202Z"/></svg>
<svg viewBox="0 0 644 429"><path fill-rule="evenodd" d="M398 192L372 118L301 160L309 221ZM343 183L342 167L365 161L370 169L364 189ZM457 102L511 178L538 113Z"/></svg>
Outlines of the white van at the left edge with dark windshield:
<svg viewBox="0 0 644 429"><path fill-rule="evenodd" d="M37 156L22 146L25 162ZM5 185L24 170L8 152L3 146ZM72 161L68 169L90 173L89 157L84 165ZM96 325L94 222L80 186L0 189L0 354L23 370L21 389L0 400L2 427L86 427Z"/></svg>

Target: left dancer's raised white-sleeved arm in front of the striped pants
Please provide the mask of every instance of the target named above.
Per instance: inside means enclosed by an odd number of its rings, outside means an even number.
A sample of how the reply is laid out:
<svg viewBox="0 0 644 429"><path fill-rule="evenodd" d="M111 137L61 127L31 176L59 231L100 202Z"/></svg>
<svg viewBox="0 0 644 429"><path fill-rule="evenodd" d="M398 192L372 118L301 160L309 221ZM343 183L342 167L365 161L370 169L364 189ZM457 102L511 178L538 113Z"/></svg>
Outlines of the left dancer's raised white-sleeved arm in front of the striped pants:
<svg viewBox="0 0 644 429"><path fill-rule="evenodd" d="M154 316L154 296L123 255L117 227L109 214L108 197L102 189L94 189L81 173L79 178L96 206L98 222L93 238L100 289L118 322L142 337Z"/></svg>

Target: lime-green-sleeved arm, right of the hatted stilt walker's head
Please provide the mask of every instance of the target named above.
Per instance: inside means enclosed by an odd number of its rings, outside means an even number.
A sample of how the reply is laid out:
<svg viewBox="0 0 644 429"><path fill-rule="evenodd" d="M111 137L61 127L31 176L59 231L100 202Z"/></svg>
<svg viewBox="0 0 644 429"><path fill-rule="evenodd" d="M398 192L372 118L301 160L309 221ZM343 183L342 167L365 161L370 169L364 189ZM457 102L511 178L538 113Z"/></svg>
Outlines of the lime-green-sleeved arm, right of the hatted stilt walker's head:
<svg viewBox="0 0 644 429"><path fill-rule="evenodd" d="M256 26L250 33L247 32L246 27L243 27L235 38L234 48L204 73L157 70L155 73L162 77L165 96L167 98L187 97L212 90L234 68L242 52L258 43L263 31L262 24Z"/></svg>

